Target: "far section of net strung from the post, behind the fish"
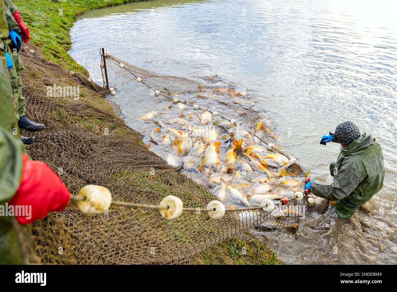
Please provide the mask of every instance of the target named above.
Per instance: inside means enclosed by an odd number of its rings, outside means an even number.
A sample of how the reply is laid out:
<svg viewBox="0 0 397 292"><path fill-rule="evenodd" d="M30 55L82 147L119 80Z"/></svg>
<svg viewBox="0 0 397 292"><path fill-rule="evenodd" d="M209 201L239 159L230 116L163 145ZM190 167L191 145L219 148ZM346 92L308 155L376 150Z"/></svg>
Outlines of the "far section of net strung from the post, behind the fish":
<svg viewBox="0 0 397 292"><path fill-rule="evenodd" d="M140 82L152 91L158 90L161 95L169 99L175 96L179 99L183 97L186 100L180 100L181 102L193 105L195 102L201 102L202 98L208 98L220 104L229 105L228 110L222 112L222 118L229 121L235 119L241 124L248 125L248 130L252 135L266 144L274 144L274 150L291 158L291 155L282 151L278 137L270 129L269 120L262 112L256 110L256 103L249 98L246 89L222 82L223 80L217 76L194 80L151 72L108 53L102 54L101 68L104 84L108 85L108 88L117 89L121 85L140 78ZM205 109L212 112L209 108Z"/></svg>

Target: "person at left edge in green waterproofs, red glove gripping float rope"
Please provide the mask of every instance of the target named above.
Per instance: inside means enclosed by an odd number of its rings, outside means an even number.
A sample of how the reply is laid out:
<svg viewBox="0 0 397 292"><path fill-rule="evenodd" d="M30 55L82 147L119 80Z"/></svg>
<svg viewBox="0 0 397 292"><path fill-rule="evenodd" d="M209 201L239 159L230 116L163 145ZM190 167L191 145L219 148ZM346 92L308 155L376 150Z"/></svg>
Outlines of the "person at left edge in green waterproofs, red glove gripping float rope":
<svg viewBox="0 0 397 292"><path fill-rule="evenodd" d="M13 112L9 75L13 62L6 45L6 8L6 1L0 0L0 264L21 264L23 258L12 220L29 224L48 212L62 211L70 194L45 163L29 160L21 142Z"/></svg>

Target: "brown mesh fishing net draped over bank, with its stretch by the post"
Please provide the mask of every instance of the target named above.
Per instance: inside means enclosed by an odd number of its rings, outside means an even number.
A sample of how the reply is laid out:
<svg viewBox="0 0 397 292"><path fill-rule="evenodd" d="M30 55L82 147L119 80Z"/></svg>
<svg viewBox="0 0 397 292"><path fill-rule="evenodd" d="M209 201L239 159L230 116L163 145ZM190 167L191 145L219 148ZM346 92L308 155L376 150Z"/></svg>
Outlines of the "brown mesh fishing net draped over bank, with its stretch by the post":
<svg viewBox="0 0 397 292"><path fill-rule="evenodd" d="M69 204L64 211L34 222L31 230L18 232L23 249L30 251L30 261L187 263L200 251L255 226L296 226L304 213L304 200L292 200L283 206L292 211L276 214L262 209L236 209L227 211L222 219L210 219L200 208L216 198L151 152L142 135L119 118L118 106L98 95L105 89L79 73L47 62L37 48L35 53L29 48L25 46L22 51L27 68L23 73L27 115L47 126L35 133L35 143L27 146L33 159L46 162L72 195L87 184L98 184L110 190L114 201L157 205L164 197L175 195L183 200L184 207L194 208L184 211L177 220L165 220L157 211L145 208L111 207L109 212L93 216ZM109 82L114 86L136 78L132 72L139 72L142 80L154 88L160 88L160 84L163 90L190 91L196 87L194 81L155 74L125 62L124 69L120 68L116 65L120 60L110 55L106 55L106 62ZM55 85L77 85L80 95L58 96L51 89ZM265 131L256 124L254 130ZM22 135L31 133L22 131Z"/></svg>

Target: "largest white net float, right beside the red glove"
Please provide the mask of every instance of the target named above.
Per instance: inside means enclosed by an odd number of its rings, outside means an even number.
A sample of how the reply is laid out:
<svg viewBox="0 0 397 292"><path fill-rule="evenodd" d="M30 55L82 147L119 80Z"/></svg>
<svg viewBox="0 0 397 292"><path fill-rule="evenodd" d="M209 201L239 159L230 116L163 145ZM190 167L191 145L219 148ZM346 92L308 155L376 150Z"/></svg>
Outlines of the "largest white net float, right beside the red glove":
<svg viewBox="0 0 397 292"><path fill-rule="evenodd" d="M77 207L84 214L102 214L109 209L112 203L112 194L102 186L89 184L79 191L84 201L77 201Z"/></svg>

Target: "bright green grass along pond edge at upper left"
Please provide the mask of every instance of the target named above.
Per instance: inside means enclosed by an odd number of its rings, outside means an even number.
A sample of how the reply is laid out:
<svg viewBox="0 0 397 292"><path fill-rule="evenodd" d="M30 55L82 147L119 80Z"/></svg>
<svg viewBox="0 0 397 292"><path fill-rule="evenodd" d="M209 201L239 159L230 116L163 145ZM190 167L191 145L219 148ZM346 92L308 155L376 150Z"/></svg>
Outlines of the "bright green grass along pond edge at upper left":
<svg viewBox="0 0 397 292"><path fill-rule="evenodd" d="M15 0L22 20L29 28L30 41L39 46L47 60L88 76L87 70L73 60L69 31L77 16L91 9L141 0ZM93 31L93 38L95 37Z"/></svg>

